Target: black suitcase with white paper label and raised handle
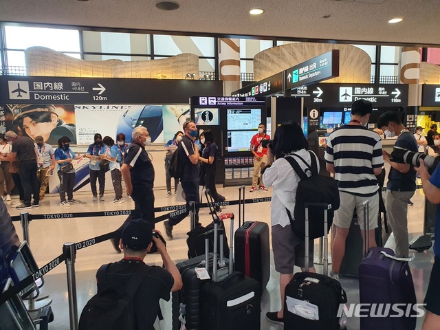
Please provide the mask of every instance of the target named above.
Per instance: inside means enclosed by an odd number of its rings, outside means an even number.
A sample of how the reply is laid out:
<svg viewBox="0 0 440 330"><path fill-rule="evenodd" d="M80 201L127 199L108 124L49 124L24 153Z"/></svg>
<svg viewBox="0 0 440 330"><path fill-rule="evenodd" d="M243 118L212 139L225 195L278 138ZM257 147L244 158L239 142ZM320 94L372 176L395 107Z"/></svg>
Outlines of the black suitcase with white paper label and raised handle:
<svg viewBox="0 0 440 330"><path fill-rule="evenodd" d="M324 274L309 270L309 207L325 208L324 212ZM285 330L336 330L339 327L338 311L340 304L347 303L347 295L339 281L327 276L327 209L323 203L305 204L305 269L306 272L294 274L286 286L284 301Z"/></svg>

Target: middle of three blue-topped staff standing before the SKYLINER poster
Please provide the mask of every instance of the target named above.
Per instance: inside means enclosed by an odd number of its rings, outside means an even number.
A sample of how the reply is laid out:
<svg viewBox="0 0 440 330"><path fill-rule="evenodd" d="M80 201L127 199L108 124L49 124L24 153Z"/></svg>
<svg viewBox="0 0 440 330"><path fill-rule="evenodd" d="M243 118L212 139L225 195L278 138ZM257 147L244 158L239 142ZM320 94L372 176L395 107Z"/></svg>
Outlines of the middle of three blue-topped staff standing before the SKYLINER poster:
<svg viewBox="0 0 440 330"><path fill-rule="evenodd" d="M104 188L105 188L105 172L106 169L100 166L100 153L104 144L102 144L102 135L96 133L94 136L94 143L89 145L85 157L90 159L90 188L91 193L94 195L93 201L98 201L98 193L96 191L96 179L99 181L99 200L104 201Z"/></svg>

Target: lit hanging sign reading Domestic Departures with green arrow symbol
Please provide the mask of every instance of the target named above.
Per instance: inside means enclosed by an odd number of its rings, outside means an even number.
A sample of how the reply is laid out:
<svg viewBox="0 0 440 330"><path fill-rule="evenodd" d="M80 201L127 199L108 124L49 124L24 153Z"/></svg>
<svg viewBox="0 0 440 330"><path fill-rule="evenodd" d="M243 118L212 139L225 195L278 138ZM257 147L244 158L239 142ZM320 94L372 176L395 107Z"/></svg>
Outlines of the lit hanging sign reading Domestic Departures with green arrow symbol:
<svg viewBox="0 0 440 330"><path fill-rule="evenodd" d="M285 71L286 89L310 85L339 76L339 50L331 50Z"/></svg>

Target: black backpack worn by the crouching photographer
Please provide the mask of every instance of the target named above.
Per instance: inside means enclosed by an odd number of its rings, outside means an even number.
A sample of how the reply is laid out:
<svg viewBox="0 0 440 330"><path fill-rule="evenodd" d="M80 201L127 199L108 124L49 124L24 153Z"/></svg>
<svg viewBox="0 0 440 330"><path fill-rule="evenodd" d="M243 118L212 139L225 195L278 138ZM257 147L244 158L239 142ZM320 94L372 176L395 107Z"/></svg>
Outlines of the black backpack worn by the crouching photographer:
<svg viewBox="0 0 440 330"><path fill-rule="evenodd" d="M106 273L109 265L105 267ZM146 274L144 267L140 267L126 283L124 291L109 287L93 296L81 313L78 330L135 330L133 297Z"/></svg>

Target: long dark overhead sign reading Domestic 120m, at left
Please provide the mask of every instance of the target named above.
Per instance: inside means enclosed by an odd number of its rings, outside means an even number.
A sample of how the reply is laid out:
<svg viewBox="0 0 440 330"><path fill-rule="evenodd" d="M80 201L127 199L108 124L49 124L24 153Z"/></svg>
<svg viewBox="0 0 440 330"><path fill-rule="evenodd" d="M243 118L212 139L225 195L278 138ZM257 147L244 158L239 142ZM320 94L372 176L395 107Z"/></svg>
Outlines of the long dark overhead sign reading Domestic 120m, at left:
<svg viewBox="0 0 440 330"><path fill-rule="evenodd" d="M196 93L220 96L221 81L0 76L0 104L187 104Z"/></svg>

